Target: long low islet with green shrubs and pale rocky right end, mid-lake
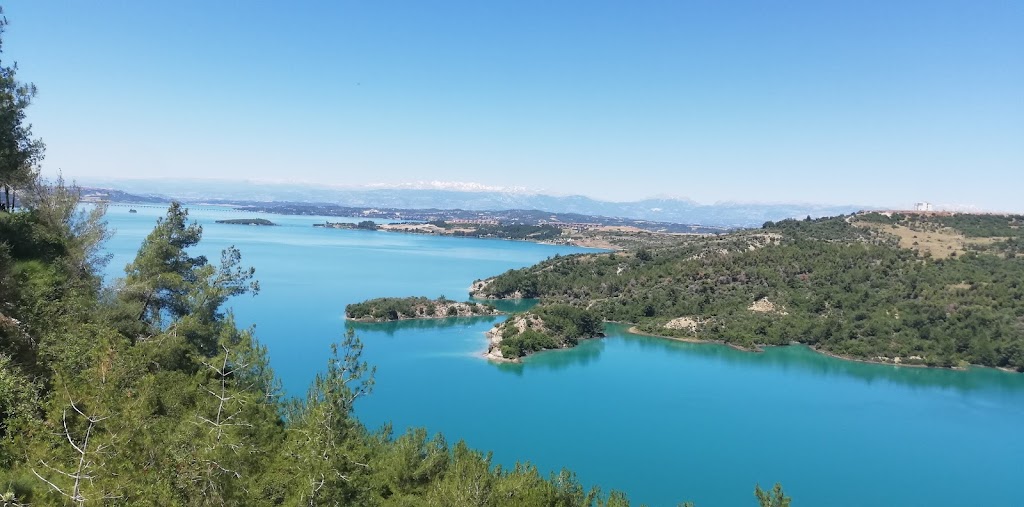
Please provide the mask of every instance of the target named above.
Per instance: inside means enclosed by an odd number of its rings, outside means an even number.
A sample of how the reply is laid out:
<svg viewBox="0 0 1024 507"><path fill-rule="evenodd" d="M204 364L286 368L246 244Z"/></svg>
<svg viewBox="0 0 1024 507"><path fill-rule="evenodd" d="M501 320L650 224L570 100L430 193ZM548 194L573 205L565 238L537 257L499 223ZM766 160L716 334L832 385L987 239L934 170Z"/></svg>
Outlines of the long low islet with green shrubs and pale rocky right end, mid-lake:
<svg viewBox="0 0 1024 507"><path fill-rule="evenodd" d="M483 303L459 302L441 296L382 297L345 306L345 318L351 321L383 323L413 319L447 319L452 316L500 315L498 308Z"/></svg>

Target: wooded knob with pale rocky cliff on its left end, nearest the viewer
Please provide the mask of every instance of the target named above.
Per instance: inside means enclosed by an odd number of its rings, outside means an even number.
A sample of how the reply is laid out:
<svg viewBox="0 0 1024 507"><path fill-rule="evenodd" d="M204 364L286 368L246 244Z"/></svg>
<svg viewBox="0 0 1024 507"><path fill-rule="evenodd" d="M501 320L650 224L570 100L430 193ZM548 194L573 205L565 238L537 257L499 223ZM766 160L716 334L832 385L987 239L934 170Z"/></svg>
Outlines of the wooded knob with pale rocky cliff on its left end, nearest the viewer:
<svg viewBox="0 0 1024 507"><path fill-rule="evenodd" d="M604 336L601 316L591 310L552 304L510 316L487 331L487 351L492 361L519 362L530 353L572 348L580 340Z"/></svg>

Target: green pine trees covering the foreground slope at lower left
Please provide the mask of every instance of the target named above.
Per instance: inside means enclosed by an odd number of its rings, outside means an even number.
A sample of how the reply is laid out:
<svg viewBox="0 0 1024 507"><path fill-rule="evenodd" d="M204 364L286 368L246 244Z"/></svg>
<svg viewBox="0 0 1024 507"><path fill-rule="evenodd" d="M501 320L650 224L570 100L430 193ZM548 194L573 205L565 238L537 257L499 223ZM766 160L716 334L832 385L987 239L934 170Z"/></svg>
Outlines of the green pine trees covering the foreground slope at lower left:
<svg viewBox="0 0 1024 507"><path fill-rule="evenodd" d="M373 369L351 334L285 398L224 307L259 290L238 250L189 254L202 227L173 204L103 288L102 210L42 196L0 213L5 505L629 505L422 429L368 430L353 409Z"/></svg>

